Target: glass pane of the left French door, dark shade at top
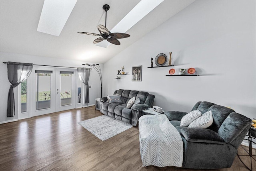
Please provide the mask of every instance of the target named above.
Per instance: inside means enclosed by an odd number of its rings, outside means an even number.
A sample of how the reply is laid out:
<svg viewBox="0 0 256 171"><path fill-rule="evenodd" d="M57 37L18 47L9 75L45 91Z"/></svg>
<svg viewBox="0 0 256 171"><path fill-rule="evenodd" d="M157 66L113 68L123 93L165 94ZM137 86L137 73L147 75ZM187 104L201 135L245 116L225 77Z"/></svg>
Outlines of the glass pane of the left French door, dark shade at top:
<svg viewBox="0 0 256 171"><path fill-rule="evenodd" d="M36 110L51 107L51 73L36 73Z"/></svg>

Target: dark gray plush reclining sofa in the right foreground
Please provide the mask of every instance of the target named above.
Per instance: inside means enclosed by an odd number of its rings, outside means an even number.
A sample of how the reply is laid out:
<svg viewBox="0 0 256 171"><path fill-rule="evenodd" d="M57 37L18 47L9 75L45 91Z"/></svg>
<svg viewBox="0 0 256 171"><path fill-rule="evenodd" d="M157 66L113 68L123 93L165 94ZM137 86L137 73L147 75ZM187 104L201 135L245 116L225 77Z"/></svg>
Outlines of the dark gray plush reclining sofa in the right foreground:
<svg viewBox="0 0 256 171"><path fill-rule="evenodd" d="M231 167L252 120L210 102L197 102L192 110L200 110L202 114L211 110L212 125L206 129L180 127L180 120L187 112L164 113L181 134L184 147L182 166L190 169Z"/></svg>

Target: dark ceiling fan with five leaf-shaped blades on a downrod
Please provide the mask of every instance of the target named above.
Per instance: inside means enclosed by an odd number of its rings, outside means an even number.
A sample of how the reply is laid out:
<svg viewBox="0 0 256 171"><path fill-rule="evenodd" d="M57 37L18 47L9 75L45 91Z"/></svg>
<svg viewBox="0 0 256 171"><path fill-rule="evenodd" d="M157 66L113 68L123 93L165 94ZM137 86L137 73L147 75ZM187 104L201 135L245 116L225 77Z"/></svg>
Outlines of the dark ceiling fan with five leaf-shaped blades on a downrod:
<svg viewBox="0 0 256 171"><path fill-rule="evenodd" d="M78 32L78 33L101 36L93 41L94 44L99 43L103 40L107 40L108 42L114 45L120 45L120 41L118 41L118 39L130 37L130 35L126 33L110 33L110 31L108 31L108 29L106 28L106 25L107 25L106 23L107 23L107 11L109 10L109 8L110 6L108 4L105 4L103 6L103 10L105 10L106 12L106 19L105 19L105 26L100 24L97 27L98 30L100 31L100 34L87 33L87 32Z"/></svg>

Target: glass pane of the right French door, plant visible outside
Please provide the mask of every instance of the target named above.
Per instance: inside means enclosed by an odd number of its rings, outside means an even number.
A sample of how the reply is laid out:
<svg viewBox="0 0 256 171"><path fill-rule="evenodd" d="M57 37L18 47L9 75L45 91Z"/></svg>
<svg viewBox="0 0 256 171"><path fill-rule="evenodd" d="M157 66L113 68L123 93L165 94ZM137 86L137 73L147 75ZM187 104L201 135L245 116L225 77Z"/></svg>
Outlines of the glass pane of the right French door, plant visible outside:
<svg viewBox="0 0 256 171"><path fill-rule="evenodd" d="M60 106L72 104L72 74L60 74Z"/></svg>

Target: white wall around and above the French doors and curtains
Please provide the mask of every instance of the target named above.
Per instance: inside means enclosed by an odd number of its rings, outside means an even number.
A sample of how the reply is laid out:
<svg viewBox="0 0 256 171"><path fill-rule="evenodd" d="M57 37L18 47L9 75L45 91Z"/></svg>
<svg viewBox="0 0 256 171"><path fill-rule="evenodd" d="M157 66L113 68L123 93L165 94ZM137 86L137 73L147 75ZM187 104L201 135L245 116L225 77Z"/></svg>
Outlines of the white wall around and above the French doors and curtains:
<svg viewBox="0 0 256 171"><path fill-rule="evenodd" d="M0 123L10 122L18 120L18 88L14 88L14 98L15 98L15 116L7 118L7 99L8 99L8 90L10 88L10 82L7 77L7 64L3 62L23 62L23 63L34 63L38 65L54 65L54 66L63 66L63 67L84 67L82 64L87 62L66 60L66 59L55 59L49 57L39 57L33 55L22 55L15 53L5 53L0 52ZM103 65L100 64L101 68ZM90 72L89 85L90 88L90 103L88 106L95 104L95 98L100 97L100 78L98 73L92 69ZM30 115L31 116L31 115Z"/></svg>

